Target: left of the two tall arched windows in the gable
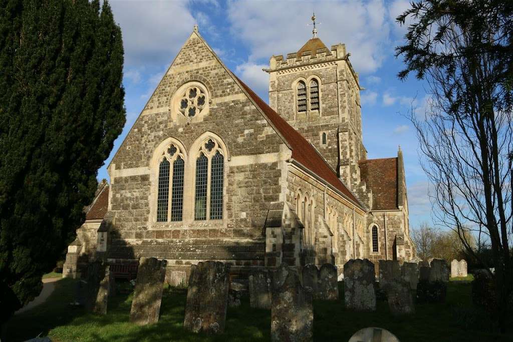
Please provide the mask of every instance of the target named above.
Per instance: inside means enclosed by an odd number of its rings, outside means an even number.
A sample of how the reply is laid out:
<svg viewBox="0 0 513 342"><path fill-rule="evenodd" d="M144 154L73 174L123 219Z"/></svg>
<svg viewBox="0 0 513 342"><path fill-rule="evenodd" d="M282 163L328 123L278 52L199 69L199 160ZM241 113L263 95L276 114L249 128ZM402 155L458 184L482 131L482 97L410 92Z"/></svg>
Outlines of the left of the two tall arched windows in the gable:
<svg viewBox="0 0 513 342"><path fill-rule="evenodd" d="M156 183L156 205L152 217L156 222L181 222L187 159L185 149L179 140L168 138L156 149L152 159Z"/></svg>

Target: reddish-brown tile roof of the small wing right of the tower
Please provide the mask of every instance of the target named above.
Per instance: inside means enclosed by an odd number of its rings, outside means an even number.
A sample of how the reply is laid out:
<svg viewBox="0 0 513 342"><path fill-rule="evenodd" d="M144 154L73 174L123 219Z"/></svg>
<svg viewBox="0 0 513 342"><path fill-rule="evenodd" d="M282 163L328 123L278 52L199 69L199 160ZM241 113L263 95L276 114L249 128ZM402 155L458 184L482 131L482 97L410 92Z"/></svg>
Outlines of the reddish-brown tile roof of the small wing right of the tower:
<svg viewBox="0 0 513 342"><path fill-rule="evenodd" d="M360 160L360 176L372 190L372 210L397 209L397 157Z"/></svg>

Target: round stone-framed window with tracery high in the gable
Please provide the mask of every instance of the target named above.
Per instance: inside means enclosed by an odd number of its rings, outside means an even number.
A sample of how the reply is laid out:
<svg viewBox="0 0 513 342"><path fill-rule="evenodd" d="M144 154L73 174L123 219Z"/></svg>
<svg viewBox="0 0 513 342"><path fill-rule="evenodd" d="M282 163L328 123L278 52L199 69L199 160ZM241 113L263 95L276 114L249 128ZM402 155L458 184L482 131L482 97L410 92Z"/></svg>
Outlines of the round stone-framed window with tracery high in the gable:
<svg viewBox="0 0 513 342"><path fill-rule="evenodd" d="M189 81L176 90L171 99L171 118L178 124L201 122L209 113L210 94L198 81Z"/></svg>

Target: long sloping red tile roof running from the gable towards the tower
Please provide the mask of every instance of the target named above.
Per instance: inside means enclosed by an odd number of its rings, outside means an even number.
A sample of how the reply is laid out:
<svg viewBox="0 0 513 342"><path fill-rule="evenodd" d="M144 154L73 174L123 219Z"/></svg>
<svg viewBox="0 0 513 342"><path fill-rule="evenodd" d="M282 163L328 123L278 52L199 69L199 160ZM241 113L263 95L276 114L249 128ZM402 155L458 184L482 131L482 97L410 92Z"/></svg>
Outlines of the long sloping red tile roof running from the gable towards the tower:
<svg viewBox="0 0 513 342"><path fill-rule="evenodd" d="M236 77L236 76L235 76ZM277 112L267 105L257 94L255 94L239 77L236 77L249 96L262 109L264 114L270 120L272 125L287 140L292 148L292 158L297 160L301 165L317 174L328 184L338 189L354 203L360 205L358 199L346 188L344 183L337 177L333 170L328 166L326 160L315 150L315 148L306 140L303 135L290 126ZM361 206L361 205L360 205Z"/></svg>

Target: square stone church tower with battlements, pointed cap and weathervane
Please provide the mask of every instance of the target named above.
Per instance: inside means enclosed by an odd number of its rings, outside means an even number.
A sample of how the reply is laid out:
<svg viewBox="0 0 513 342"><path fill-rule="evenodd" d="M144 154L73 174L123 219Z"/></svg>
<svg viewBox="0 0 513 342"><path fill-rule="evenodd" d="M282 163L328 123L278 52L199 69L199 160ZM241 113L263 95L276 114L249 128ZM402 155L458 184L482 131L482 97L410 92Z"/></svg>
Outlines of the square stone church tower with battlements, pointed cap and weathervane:
<svg viewBox="0 0 513 342"><path fill-rule="evenodd" d="M360 84L345 45L328 49L313 36L298 52L272 56L269 103L317 148L353 192L359 192L359 160L367 158L362 139Z"/></svg>

